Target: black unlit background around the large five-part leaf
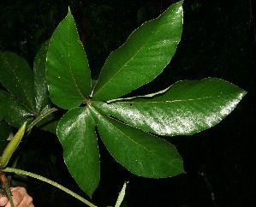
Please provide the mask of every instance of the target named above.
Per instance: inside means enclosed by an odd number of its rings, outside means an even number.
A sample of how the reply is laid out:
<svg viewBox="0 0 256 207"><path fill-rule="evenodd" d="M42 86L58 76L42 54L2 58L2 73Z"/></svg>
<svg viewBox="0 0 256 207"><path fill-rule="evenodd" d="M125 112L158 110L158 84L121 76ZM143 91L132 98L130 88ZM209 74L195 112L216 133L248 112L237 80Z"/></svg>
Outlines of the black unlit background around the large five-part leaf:
<svg viewBox="0 0 256 207"><path fill-rule="evenodd" d="M162 0L2 0L0 51L9 50L33 65L40 44L57 24L74 15L80 38L97 78L105 58L144 21L157 17L175 1ZM187 174L170 179L145 179L117 164L104 145L101 180L92 196L98 206L114 205L125 180L128 206L241 206L255 203L255 21L253 0L192 0L184 2L182 41L163 74L137 93L146 94L177 80L217 77L247 91L236 109L216 127L193 136L165 138L183 157ZM254 134L254 135L253 135ZM45 175L80 191L63 163L62 147L54 134L37 129L22 146L20 167ZM19 178L17 178L19 180ZM21 180L39 206L84 206L65 192L38 180Z"/></svg>

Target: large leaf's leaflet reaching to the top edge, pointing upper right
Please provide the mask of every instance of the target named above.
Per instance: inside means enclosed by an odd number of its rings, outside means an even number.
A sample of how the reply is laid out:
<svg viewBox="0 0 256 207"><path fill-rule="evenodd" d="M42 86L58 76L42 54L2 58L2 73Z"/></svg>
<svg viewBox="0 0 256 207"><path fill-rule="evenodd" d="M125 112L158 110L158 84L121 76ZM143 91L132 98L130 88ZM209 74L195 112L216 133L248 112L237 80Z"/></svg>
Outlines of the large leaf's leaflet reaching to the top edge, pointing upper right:
<svg viewBox="0 0 256 207"><path fill-rule="evenodd" d="M136 29L126 43L107 58L92 99L107 101L121 97L162 73L180 42L182 19L181 1Z"/></svg>

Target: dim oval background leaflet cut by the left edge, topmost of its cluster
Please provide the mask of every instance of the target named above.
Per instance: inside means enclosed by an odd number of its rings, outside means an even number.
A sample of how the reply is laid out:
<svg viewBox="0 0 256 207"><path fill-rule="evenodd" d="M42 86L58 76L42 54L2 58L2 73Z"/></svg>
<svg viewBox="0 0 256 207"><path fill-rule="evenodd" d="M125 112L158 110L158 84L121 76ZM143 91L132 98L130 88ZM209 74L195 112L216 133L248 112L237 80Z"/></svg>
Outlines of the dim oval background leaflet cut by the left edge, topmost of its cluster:
<svg viewBox="0 0 256 207"><path fill-rule="evenodd" d="M0 82L31 112L36 111L33 72L27 62L12 52L0 53Z"/></svg>

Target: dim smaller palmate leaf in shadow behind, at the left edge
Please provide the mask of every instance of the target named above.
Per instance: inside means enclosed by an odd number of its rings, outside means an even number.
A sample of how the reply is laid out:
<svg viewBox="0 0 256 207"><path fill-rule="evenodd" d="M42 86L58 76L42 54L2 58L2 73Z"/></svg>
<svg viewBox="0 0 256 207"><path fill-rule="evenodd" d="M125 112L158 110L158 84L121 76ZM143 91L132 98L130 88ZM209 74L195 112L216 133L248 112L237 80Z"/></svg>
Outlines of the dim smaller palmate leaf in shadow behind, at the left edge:
<svg viewBox="0 0 256 207"><path fill-rule="evenodd" d="M42 44L34 59L33 70L21 56L12 52L0 53L1 83L9 91L5 92L4 102L8 102L8 105L4 107L4 118L14 127L21 127L24 121L30 123L45 110L51 109L45 82L47 46L47 41ZM0 107L2 110L1 105ZM48 121L51 122L49 119ZM45 127L46 125L48 123Z"/></svg>

